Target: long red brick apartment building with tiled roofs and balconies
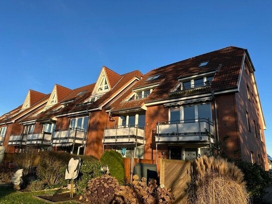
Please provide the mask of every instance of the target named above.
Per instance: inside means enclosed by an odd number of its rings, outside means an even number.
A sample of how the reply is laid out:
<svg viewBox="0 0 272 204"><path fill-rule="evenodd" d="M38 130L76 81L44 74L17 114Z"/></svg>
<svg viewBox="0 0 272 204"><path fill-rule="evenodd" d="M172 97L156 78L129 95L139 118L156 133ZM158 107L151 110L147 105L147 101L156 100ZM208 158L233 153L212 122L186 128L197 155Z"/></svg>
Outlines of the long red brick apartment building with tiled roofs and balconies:
<svg viewBox="0 0 272 204"><path fill-rule="evenodd" d="M265 122L246 49L227 47L177 63L119 75L50 95L30 90L0 118L6 151L65 150L98 158L194 159L226 154L268 169ZM38 94L39 93L39 94Z"/></svg>

